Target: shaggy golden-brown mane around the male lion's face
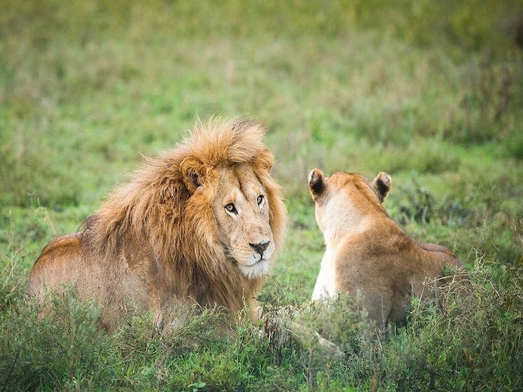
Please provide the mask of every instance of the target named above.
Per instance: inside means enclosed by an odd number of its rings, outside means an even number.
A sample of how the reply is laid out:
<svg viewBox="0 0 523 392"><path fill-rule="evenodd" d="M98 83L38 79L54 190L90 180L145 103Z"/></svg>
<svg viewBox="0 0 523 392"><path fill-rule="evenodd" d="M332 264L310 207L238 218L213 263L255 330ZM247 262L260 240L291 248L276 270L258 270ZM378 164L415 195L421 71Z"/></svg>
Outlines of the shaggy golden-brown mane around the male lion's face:
<svg viewBox="0 0 523 392"><path fill-rule="evenodd" d="M160 308L191 298L202 306L240 311L256 296L265 276L247 278L217 239L211 202L224 185L218 183L215 169L238 164L253 168L267 192L269 226L276 248L281 248L287 214L282 189L269 173L273 157L262 142L264 135L265 128L249 119L197 121L175 148L146 157L131 181L115 188L86 219L78 235L81 257L103 265L107 280L111 275L119 279L122 267L117 264L124 260L147 259L139 266L140 279L144 287L153 287L147 290L158 291L148 295L169 297L168 303L156 304ZM199 162L193 170L205 176L205 191L190 191L182 169L188 158ZM158 276L165 278L151 282ZM102 293L102 302L109 302L111 295ZM114 316L108 318L111 323Z"/></svg>

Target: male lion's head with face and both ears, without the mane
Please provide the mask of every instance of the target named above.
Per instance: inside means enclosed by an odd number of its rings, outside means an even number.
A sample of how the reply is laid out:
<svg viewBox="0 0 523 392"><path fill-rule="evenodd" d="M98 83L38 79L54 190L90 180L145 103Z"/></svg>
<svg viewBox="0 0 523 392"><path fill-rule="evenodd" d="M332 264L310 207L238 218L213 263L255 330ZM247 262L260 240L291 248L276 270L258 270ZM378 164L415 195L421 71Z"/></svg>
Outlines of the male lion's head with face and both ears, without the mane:
<svg viewBox="0 0 523 392"><path fill-rule="evenodd" d="M213 215L206 218L213 221L213 239L251 279L267 275L276 246L271 203L281 201L276 194L279 187L269 175L271 165L268 150L254 162L208 167L190 157L181 164L191 194L188 203L201 209L200 218Z"/></svg>

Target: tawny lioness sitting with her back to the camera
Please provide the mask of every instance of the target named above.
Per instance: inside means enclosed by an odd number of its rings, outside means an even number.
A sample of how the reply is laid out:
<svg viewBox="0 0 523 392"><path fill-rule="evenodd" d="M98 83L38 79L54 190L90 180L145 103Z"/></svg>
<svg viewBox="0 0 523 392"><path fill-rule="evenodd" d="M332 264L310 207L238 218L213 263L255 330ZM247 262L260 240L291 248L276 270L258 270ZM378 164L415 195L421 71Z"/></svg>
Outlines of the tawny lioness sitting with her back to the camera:
<svg viewBox="0 0 523 392"><path fill-rule="evenodd" d="M427 279L444 266L460 268L445 246L417 242L390 219L381 205L391 185L387 173L370 182L358 173L326 178L314 169L308 185L326 244L313 300L348 293L385 327L405 321L411 296L428 295Z"/></svg>

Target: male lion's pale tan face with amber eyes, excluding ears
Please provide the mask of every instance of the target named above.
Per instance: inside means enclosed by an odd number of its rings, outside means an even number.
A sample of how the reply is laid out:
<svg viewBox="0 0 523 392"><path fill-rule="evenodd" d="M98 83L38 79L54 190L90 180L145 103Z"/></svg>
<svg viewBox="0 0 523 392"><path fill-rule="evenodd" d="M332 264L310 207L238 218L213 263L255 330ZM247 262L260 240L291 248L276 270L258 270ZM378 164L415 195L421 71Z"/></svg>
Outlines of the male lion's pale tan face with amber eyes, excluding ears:
<svg viewBox="0 0 523 392"><path fill-rule="evenodd" d="M219 241L248 278L267 275L274 241L269 225L269 198L248 164L218 170L213 200Z"/></svg>

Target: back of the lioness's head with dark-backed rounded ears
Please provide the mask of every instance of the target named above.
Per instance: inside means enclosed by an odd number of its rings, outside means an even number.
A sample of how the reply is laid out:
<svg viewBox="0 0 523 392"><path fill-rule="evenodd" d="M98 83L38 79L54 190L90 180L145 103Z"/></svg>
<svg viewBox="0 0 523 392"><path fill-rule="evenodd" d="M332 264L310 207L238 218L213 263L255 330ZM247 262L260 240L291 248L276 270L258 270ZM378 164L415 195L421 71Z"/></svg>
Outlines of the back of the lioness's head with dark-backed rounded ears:
<svg viewBox="0 0 523 392"><path fill-rule="evenodd" d="M356 225L363 216L385 211L381 206L392 180L380 172L371 182L359 173L339 171L325 177L314 169L309 177L309 190L316 204L316 221L322 232L338 223Z"/></svg>

